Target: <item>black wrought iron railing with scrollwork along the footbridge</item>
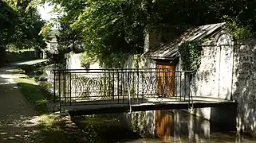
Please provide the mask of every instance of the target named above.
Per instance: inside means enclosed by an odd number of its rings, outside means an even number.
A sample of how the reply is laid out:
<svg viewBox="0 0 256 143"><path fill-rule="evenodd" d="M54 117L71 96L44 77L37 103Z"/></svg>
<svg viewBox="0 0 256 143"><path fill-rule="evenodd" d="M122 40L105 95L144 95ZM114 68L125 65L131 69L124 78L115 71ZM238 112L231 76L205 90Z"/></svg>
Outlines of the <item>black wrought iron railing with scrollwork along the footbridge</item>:
<svg viewBox="0 0 256 143"><path fill-rule="evenodd" d="M146 102L147 98L191 99L191 72L169 69L54 70L54 102ZM188 98L188 99L187 99ZM188 101L189 102L189 101ZM102 103L102 102L101 102Z"/></svg>

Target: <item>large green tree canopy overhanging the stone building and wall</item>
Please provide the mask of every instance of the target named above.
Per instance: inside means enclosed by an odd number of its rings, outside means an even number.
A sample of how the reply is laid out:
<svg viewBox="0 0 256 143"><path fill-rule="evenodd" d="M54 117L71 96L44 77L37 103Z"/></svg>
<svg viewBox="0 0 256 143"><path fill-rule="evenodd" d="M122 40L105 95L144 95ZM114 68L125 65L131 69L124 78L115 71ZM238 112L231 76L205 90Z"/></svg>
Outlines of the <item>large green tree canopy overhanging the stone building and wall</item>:
<svg viewBox="0 0 256 143"><path fill-rule="evenodd" d="M43 1L45 2L45 1ZM62 48L81 41L88 56L104 67L120 67L125 57L143 52L149 26L191 25L228 21L256 31L256 2L238 0L48 0L63 16L58 42ZM45 27L49 28L49 27ZM45 30L47 31L47 30Z"/></svg>

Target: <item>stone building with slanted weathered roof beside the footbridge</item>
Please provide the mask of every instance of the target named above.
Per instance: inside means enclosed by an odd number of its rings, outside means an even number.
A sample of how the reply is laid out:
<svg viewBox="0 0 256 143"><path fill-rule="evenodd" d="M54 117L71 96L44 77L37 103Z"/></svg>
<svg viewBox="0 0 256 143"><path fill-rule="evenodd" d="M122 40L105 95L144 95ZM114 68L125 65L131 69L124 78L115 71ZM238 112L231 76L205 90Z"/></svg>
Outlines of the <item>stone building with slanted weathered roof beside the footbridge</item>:
<svg viewBox="0 0 256 143"><path fill-rule="evenodd" d="M235 100L238 106L237 109L228 106L222 109L203 108L192 111L192 114L220 122L231 121L236 123L238 131L256 135L256 42L235 41L228 33L225 23L193 27L166 44L161 44L159 31L151 30L145 37L145 52L140 56L139 68L159 68L167 65L175 71L182 70L179 45L193 40L207 41L202 44L199 70L191 78L191 95ZM128 60L126 68L132 68L132 62L132 58ZM148 125L141 126L141 130L154 132L156 113L153 112L140 114L151 114L152 117L140 117L144 120L140 121L144 122L141 125ZM230 114L235 114L236 117L232 118ZM138 114L134 113L130 118L133 116Z"/></svg>

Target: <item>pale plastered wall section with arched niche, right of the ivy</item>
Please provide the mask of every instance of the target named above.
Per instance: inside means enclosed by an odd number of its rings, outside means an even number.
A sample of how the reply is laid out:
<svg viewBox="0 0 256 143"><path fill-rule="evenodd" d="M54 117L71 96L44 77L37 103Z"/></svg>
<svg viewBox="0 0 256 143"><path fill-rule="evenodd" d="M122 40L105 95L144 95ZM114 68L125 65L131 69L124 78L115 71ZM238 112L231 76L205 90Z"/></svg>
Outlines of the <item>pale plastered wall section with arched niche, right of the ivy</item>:
<svg viewBox="0 0 256 143"><path fill-rule="evenodd" d="M232 44L222 44L216 41L203 43L199 71L191 79L190 89L192 96L230 99L232 91L233 53ZM182 70L181 62L179 60L176 70ZM230 106L230 108L232 109L228 113L230 113L230 117L234 117L236 112L232 110L235 110L235 107ZM191 114L196 114L197 116L215 122L230 122L232 124L234 122L232 118L226 118L226 116L219 118L219 115L223 114L219 108L200 108L189 111Z"/></svg>

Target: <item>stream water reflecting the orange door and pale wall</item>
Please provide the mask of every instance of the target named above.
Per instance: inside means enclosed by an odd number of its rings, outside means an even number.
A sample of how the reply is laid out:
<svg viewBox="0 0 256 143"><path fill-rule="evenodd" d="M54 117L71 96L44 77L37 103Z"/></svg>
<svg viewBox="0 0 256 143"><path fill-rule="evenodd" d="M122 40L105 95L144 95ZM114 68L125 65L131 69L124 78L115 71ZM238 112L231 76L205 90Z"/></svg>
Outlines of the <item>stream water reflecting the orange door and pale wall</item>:
<svg viewBox="0 0 256 143"><path fill-rule="evenodd" d="M228 126L219 126L215 122L209 122L181 110L156 111L156 136L163 142L256 142L251 137L238 136L234 131L227 129ZM167 132L161 133L164 131Z"/></svg>

